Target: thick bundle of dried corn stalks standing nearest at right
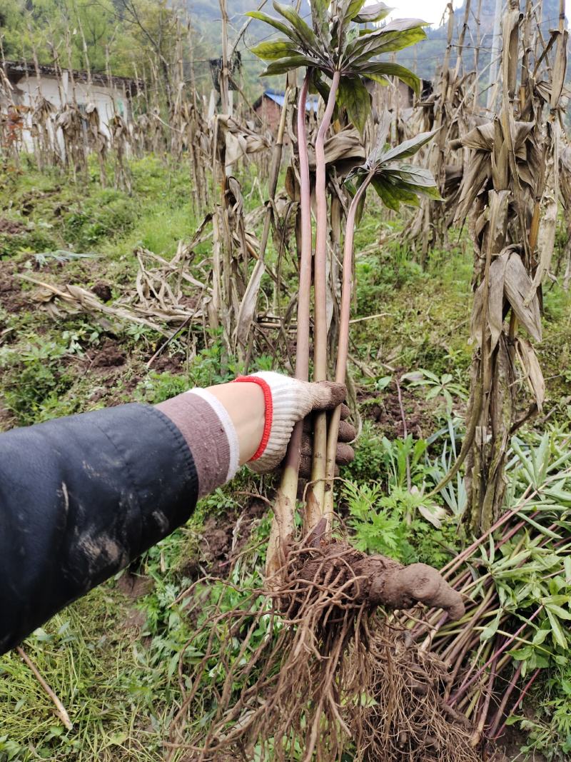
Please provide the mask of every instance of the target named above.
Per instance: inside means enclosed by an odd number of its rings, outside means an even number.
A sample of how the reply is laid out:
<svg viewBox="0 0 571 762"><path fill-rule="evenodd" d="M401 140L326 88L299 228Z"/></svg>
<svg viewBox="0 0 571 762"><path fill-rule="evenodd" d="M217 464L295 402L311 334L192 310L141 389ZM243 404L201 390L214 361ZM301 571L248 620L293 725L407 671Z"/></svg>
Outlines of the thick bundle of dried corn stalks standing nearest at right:
<svg viewBox="0 0 571 762"><path fill-rule="evenodd" d="M471 149L456 221L467 220L474 242L471 334L477 349L467 434L454 471L467 458L468 517L476 533L487 530L502 507L510 437L544 402L531 341L541 341L541 280L553 251L566 32L553 33L557 60L549 87L522 72L518 116L532 118L516 120L520 24L517 0L510 0L503 20L502 110L458 141ZM518 335L520 327L529 338ZM523 409L522 383L533 399Z"/></svg>

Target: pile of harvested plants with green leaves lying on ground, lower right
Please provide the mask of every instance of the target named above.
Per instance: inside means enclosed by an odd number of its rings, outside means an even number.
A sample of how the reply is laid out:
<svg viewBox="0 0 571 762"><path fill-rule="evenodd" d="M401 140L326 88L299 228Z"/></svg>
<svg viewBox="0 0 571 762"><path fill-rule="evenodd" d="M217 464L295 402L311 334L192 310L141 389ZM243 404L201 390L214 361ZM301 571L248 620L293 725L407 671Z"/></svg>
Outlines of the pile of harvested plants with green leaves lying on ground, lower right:
<svg viewBox="0 0 571 762"><path fill-rule="evenodd" d="M400 648L393 646L390 657L379 656L378 646L377 654L371 652L374 668L382 658L392 659L397 680L402 659L424 664L425 674L430 674L427 659L430 664L438 662L440 671L437 666L435 673L442 684L435 695L436 714L464 723L468 749L480 753L492 750L493 742L502 737L541 669L557 671L567 663L570 440L557 429L544 434L535 447L517 437L513 440L506 511L442 569L443 578L464 600L464 615L456 622L439 610L430 611L422 621L399 616L405 632ZM384 669L382 674L391 671ZM394 709L395 695L417 690L423 694L426 684L417 687L415 681L390 690L381 683L369 694L374 704L361 710L366 722L389 722L393 728L381 737L384 746L375 745L378 758L448 758L442 751L447 744L439 741L438 733L428 732L435 738L432 751L425 748L416 754L419 741L410 728L413 712L410 707L407 714ZM387 721L391 712L397 719ZM358 725L362 728L364 722L359 720ZM480 758L468 751L463 754L462 759Z"/></svg>

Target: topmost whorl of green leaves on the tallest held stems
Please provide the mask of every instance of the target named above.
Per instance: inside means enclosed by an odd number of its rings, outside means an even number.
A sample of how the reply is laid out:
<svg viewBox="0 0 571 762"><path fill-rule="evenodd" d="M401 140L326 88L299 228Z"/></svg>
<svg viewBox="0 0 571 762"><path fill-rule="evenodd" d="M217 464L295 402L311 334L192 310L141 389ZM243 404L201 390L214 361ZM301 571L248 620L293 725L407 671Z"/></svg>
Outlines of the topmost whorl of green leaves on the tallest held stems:
<svg viewBox="0 0 571 762"><path fill-rule="evenodd" d="M409 69L397 63L378 61L376 56L394 53L426 38L426 21L396 19L384 27L359 28L359 24L374 24L391 11L378 2L363 8L365 0L341 0L337 10L328 10L326 0L311 3L312 27L293 8L273 3L284 21L261 12L247 15L264 21L284 37L270 40L252 49L259 58L268 62L263 77L285 74L298 66L311 71L311 87L327 101L329 88L324 80L333 72L340 72L337 104L346 108L349 120L362 132L371 112L371 96L365 81L388 85L394 76L406 82L416 94L420 81Z"/></svg>

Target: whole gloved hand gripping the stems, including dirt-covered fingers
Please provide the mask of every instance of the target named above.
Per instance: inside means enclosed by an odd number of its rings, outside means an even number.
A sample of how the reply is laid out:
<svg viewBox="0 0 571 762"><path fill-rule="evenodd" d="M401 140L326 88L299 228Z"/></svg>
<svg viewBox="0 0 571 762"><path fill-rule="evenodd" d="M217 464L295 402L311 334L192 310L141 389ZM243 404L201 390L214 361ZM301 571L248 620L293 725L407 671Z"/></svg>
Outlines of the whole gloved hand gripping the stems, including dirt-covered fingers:
<svg viewBox="0 0 571 762"><path fill-rule="evenodd" d="M310 383L283 376L273 371L261 371L241 376L237 382L257 383L263 390L266 418L260 447L247 466L257 473L273 471L285 457L294 425L311 412L332 410L346 396L343 384L330 381ZM355 429L345 419L349 408L343 405L337 445L337 464L344 466L355 457L347 442L355 438ZM301 440L300 476L308 478L311 471L311 421L305 424Z"/></svg>

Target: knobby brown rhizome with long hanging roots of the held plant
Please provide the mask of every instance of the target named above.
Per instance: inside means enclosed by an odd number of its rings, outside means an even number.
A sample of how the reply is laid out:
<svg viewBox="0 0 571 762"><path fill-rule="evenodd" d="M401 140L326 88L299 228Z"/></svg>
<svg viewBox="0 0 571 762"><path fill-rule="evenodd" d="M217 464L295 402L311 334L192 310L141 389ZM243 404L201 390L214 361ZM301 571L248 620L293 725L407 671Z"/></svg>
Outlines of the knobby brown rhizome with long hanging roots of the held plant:
<svg viewBox="0 0 571 762"><path fill-rule="evenodd" d="M305 762L340 759L356 733L348 712L372 694L378 680L368 658L382 621L375 613L378 604L403 607L426 599L430 606L461 615L457 594L438 573L416 566L317 539L289 549L278 590L254 591L236 610L220 603L202 610L195 638L203 641L206 629L209 634L202 660L184 681L191 688L183 689L171 728L172 755L183 748L189 762L214 762L228 753L251 760L256 750L261 758L267 753L285 762L292 749L300 748ZM260 631L266 632L261 641ZM186 650L180 655L183 673ZM212 679L213 668L222 682ZM204 712L206 725L187 727ZM384 726L376 732L382 734Z"/></svg>

